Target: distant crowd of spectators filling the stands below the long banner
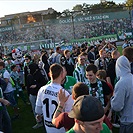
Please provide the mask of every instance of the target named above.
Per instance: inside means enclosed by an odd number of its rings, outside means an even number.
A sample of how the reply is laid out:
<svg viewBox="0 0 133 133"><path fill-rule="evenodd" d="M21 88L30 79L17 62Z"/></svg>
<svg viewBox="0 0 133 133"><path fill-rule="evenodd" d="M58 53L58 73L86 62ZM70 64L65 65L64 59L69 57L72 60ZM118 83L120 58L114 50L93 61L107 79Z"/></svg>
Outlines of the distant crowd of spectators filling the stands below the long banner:
<svg viewBox="0 0 133 133"><path fill-rule="evenodd" d="M12 28L9 31L2 31L0 42L5 43L23 43L45 39L53 39L54 42L71 39L92 38L102 35L113 35L131 32L130 18L103 20L95 22L75 22L73 24L44 24L39 27Z"/></svg>

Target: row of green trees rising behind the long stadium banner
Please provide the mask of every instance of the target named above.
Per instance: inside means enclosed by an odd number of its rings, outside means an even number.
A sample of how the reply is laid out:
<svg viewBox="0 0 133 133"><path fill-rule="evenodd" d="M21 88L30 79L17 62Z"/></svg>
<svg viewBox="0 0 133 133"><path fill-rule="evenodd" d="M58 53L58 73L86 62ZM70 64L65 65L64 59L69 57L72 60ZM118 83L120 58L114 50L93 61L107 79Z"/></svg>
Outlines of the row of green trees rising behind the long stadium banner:
<svg viewBox="0 0 133 133"><path fill-rule="evenodd" d="M127 1L132 1L133 3L133 0L127 0ZM116 4L113 1L105 1L105 2L101 2L98 4L91 4L91 5L87 3L83 3L83 4L75 5L72 9L72 12L76 15L117 12L117 11L128 10L127 8L124 8L125 6L126 6L125 3ZM71 11L69 11L68 9L62 12L63 17L67 17L70 15L71 15Z"/></svg>

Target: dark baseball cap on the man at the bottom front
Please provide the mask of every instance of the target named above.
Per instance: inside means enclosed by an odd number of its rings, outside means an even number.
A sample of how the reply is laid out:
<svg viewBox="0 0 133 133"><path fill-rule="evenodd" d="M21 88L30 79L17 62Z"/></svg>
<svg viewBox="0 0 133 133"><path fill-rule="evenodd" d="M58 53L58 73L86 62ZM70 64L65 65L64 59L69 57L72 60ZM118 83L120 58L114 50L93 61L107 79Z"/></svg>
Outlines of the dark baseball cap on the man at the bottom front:
<svg viewBox="0 0 133 133"><path fill-rule="evenodd" d="M68 116L80 121L91 122L102 118L104 109L97 98L83 95L76 99Z"/></svg>

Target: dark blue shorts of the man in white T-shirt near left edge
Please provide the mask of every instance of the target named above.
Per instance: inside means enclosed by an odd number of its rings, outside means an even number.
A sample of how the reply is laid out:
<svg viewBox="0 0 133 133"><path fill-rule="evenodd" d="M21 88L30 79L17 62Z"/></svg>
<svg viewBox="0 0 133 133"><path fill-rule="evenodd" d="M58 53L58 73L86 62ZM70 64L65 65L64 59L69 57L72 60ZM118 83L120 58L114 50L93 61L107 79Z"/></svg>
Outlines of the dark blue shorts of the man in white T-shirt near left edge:
<svg viewBox="0 0 133 133"><path fill-rule="evenodd" d="M17 106L17 102L14 98L14 91L11 91L9 93L4 93L4 98L10 102L11 106L13 107Z"/></svg>

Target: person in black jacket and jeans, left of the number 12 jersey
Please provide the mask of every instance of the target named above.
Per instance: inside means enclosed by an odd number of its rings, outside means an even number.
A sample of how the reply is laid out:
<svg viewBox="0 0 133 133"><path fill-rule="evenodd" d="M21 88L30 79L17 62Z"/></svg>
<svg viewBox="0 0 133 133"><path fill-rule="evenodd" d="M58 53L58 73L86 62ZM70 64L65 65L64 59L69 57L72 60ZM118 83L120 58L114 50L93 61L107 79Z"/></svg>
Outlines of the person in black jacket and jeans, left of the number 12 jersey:
<svg viewBox="0 0 133 133"><path fill-rule="evenodd" d="M31 61L31 57L29 55L25 56L25 77L26 77L26 86L27 86L27 92L29 95L29 100L32 106L32 110L34 113L34 116L36 117L35 114L35 103L36 103L36 98L37 98L37 93L38 90L45 85L47 82L42 75L38 65L34 62ZM42 122L38 122L33 128L39 128L43 126Z"/></svg>

